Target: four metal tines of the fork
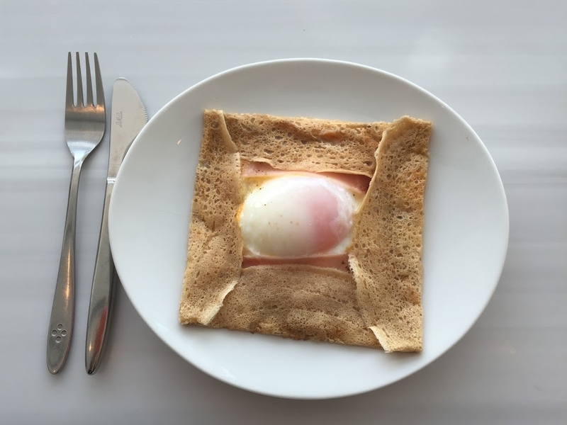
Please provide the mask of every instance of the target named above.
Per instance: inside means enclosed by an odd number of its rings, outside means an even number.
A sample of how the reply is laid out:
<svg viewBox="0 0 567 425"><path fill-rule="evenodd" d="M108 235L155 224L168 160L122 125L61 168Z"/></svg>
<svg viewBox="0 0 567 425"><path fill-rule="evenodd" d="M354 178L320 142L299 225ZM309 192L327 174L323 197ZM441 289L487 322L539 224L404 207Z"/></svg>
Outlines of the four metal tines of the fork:
<svg viewBox="0 0 567 425"><path fill-rule="evenodd" d="M94 78L96 83L96 103L93 100L93 89L91 81L91 63L89 61L89 53L84 54L86 64L86 103L83 99L83 80L81 74L81 60L79 52L75 52L77 57L77 103L74 103L73 91L73 64L71 52L67 55L67 96L65 106L72 108L73 106L101 106L104 104L104 91L102 86L101 69L99 67L99 57L94 54Z"/></svg>

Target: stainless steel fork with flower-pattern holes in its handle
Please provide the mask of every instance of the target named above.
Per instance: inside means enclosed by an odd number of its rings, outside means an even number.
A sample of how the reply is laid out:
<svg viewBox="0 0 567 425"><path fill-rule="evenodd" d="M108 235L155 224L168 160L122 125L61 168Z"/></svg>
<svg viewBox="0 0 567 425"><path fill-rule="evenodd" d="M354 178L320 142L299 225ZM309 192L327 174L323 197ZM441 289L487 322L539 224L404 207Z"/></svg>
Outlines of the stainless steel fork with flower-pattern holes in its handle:
<svg viewBox="0 0 567 425"><path fill-rule="evenodd" d="M67 217L65 218L59 272L57 273L57 284L55 285L55 295L53 297L47 334L47 369L49 369L50 373L59 372L64 365L73 334L75 230L77 227L77 195L79 192L81 168L86 157L101 142L106 127L104 90L99 68L99 57L96 56L96 53L94 54L96 86L96 104L94 104L89 54L84 54L86 62L86 103L83 101L83 81L79 52L76 53L76 56L77 104L75 105L71 52L67 55L65 139L73 156L73 171L69 186L69 200L67 201Z"/></svg>

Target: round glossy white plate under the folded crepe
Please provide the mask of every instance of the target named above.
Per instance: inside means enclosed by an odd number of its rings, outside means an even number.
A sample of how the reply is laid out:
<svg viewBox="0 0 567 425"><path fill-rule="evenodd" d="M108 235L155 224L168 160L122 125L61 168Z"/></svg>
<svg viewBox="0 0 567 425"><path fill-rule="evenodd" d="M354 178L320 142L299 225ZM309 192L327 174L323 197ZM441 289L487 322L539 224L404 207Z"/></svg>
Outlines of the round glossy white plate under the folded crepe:
<svg viewBox="0 0 567 425"><path fill-rule="evenodd" d="M205 108L357 121L407 114L433 122L425 194L422 353L385 354L181 327L177 307ZM206 79L150 120L120 168L110 207L110 237L128 297L179 356L246 390L327 398L400 380L434 361L470 329L503 268L508 212L500 176L481 140L427 91L357 64L279 60Z"/></svg>

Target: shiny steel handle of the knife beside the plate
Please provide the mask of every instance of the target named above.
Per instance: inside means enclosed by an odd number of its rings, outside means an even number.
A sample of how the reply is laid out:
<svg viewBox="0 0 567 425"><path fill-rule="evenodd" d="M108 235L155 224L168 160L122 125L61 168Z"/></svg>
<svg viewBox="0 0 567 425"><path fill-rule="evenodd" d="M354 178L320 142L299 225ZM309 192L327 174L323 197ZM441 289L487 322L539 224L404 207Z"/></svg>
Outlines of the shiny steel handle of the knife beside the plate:
<svg viewBox="0 0 567 425"><path fill-rule="evenodd" d="M89 375L96 373L101 363L113 305L116 271L112 259L110 242L108 240L108 206L110 204L113 187L114 183L107 181L106 193L104 195L101 234L99 237L99 249L96 251L91 302L89 304L89 316L86 322L84 360L86 373Z"/></svg>

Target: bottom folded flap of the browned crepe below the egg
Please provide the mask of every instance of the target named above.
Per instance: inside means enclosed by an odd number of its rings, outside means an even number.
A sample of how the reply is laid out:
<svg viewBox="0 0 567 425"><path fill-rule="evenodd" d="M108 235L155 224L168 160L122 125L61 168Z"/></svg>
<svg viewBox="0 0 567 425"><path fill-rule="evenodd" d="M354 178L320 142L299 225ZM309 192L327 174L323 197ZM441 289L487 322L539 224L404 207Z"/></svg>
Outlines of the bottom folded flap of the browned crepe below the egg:
<svg viewBox="0 0 567 425"><path fill-rule="evenodd" d="M380 346L365 326L351 273L306 265L242 269L211 327Z"/></svg>

